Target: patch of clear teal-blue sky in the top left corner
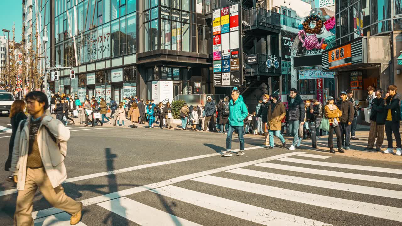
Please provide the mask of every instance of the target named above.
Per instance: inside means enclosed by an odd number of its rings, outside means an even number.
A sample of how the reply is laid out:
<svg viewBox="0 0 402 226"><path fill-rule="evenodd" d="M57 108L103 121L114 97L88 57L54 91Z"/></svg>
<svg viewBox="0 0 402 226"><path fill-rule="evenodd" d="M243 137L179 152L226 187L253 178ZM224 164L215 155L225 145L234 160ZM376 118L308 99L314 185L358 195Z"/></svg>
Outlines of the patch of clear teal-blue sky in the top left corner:
<svg viewBox="0 0 402 226"><path fill-rule="evenodd" d="M12 25L15 22L15 41L21 42L21 33L23 29L23 6L21 0L0 0L0 35L7 36L2 29L10 30L10 39L12 39Z"/></svg>

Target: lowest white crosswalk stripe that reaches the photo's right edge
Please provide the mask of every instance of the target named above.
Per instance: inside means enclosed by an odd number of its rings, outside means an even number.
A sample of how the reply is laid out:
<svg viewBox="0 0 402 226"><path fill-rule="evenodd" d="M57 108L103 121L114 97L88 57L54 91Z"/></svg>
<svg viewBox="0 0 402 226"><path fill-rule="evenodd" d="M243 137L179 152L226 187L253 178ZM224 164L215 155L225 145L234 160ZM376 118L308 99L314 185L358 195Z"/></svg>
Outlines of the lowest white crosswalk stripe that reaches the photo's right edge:
<svg viewBox="0 0 402 226"><path fill-rule="evenodd" d="M260 185L245 181L236 181L233 179L215 177L210 175L195 178L192 180L211 185L236 189L240 191L246 191L254 194L265 195L268 197L285 199L289 201L295 201L298 203L305 203L308 205L315 205L334 210L342 210L355 214L363 214L367 216L373 216L377 218L384 218L388 220L395 220L402 222L402 215L400 214L402 213L402 209L392 206L365 203L361 201L354 201L348 199L340 199L325 195L316 195L307 192L293 191L289 189L283 189L280 187Z"/></svg>

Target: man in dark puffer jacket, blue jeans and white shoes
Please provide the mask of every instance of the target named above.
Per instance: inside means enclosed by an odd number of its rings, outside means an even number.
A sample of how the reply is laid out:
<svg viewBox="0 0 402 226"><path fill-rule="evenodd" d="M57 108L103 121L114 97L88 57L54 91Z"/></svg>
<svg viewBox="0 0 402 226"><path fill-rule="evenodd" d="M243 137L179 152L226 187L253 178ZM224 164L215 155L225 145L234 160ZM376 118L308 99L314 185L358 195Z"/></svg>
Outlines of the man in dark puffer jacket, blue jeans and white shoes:
<svg viewBox="0 0 402 226"><path fill-rule="evenodd" d="M293 136L293 142L289 150L295 150L295 147L299 147L301 140L299 141L299 126L304 125L304 116L306 110L304 109L304 103L301 100L300 95L297 94L297 89L290 89L290 98L287 99L289 105L289 130Z"/></svg>

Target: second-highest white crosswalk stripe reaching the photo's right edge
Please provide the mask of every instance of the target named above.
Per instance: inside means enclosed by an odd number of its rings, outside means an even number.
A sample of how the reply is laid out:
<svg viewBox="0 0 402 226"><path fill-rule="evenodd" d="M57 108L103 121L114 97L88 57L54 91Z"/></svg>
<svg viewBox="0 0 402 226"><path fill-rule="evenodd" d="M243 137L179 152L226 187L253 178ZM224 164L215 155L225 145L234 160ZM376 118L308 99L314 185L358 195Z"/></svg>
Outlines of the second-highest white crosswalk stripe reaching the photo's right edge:
<svg viewBox="0 0 402 226"><path fill-rule="evenodd" d="M310 174L324 175L324 176L330 176L330 177L343 177L343 178L356 179L356 180L362 180L362 181L374 181L374 182L380 182L380 183L402 185L402 180L401 179L390 178L390 177L377 177L377 176L355 174L355 173L343 173L343 172L337 172L337 171L326 171L326 170L303 168L303 167L297 167L297 166L287 166L287 165L281 165L281 164L273 164L273 163L267 163L267 162L264 162L264 163L261 163L261 164L256 164L255 166L262 166L262 167L267 167L267 168L275 168L275 169L287 170L287 171L295 171L295 172L300 172L300 173L310 173Z"/></svg>

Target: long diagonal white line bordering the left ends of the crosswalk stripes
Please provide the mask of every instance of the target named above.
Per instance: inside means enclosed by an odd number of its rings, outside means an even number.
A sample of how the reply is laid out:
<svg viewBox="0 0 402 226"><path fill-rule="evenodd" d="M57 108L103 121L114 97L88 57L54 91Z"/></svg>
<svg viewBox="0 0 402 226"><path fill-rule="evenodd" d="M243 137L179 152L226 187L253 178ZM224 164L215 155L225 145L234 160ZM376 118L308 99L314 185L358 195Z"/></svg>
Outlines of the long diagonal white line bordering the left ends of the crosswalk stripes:
<svg viewBox="0 0 402 226"><path fill-rule="evenodd" d="M101 203L101 202L104 202L104 201L109 201L111 199L117 199L117 198L127 196L127 195L131 195L131 194L134 194L134 193L139 193L139 192L142 192L142 191L148 191L148 190L151 190L151 189L156 189L158 187L164 187L164 186L167 186L167 185L172 185L174 183L178 183L178 182L181 182L181 181L187 181L187 180L190 180L190 179L193 179L193 178L196 178L196 177L202 177L202 176L210 175L210 174L213 174L213 173L219 173L219 172L223 172L223 171L228 171L228 170L235 169L235 168L241 168L241 167L245 167L245 166L250 166L250 165L258 164L258 163L261 163L261 162L267 162L267 161L271 161L271 160L276 160L278 158L283 158L283 157L292 156L292 155L296 155L296 154L302 154L302 153L304 153L304 152L291 152L291 153L275 155L275 156L271 156L271 157L267 157L267 158L261 158L261 159L253 160L253 161L249 161L249 162L242 162L242 163L238 163L238 164L234 164L234 165L230 165L230 166L224 166L224 167L215 168L215 169L211 169L211 170L207 170L207 171L201 171L201 172L197 172L197 173L183 175L183 176L180 176L180 177L175 177L175 178L172 178L172 179L152 183L152 184L149 184L149 185L133 187L133 188L129 188L129 189L109 193L109 194L106 194L106 195L100 195L100 196L96 196L96 197L92 197L92 198L84 199L84 200L80 200L80 201L82 202L82 204L84 206L92 205L92 204ZM58 213L61 213L61 212L64 212L64 211L59 210L57 208L49 208L49 209L45 209L45 210L39 210L39 211L32 212L32 218L33 219L42 218L42 217L45 217L45 216L58 214Z"/></svg>

